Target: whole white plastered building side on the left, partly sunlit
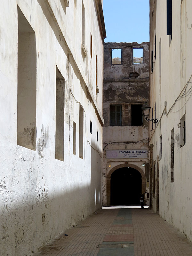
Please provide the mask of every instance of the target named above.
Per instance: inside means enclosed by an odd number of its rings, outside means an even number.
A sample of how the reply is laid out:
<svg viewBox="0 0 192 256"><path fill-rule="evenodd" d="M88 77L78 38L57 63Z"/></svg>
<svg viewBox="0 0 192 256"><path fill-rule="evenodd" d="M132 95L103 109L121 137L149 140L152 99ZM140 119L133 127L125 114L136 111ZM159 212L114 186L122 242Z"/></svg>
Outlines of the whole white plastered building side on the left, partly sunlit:
<svg viewBox="0 0 192 256"><path fill-rule="evenodd" d="M30 255L102 204L102 1L0 12L0 252Z"/></svg>

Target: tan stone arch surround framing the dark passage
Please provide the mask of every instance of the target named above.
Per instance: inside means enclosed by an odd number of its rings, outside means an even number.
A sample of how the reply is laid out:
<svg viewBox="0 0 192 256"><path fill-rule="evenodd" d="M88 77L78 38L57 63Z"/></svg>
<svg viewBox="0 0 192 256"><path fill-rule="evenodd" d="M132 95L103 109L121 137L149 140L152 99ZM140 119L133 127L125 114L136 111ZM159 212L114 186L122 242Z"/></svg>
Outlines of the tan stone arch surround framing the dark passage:
<svg viewBox="0 0 192 256"><path fill-rule="evenodd" d="M143 170L140 167L138 167L135 164L116 165L107 174L107 205L111 205L111 174L114 171L116 171L117 169L123 168L123 167L131 167L140 172L140 174L141 174L141 191L142 191L142 193L144 193L146 191L146 177L145 177L145 173L143 172Z"/></svg>

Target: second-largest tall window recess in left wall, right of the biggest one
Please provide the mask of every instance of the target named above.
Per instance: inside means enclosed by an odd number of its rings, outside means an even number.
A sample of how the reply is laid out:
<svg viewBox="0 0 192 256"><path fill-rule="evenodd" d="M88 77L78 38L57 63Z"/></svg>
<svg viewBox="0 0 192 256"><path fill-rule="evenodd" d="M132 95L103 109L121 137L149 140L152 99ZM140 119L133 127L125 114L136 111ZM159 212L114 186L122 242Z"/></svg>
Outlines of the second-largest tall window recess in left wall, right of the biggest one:
<svg viewBox="0 0 192 256"><path fill-rule="evenodd" d="M56 66L55 158L64 161L65 79Z"/></svg>

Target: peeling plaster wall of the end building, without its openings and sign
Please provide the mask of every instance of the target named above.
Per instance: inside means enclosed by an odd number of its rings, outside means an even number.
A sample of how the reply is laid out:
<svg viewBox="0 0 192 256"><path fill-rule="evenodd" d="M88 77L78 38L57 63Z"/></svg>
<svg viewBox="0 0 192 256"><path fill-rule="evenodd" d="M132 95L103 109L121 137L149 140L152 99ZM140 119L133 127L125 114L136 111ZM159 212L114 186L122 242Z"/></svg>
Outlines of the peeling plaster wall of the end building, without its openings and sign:
<svg viewBox="0 0 192 256"><path fill-rule="evenodd" d="M109 204L108 189L110 170L127 166L138 168L148 179L148 158L106 159L106 150L146 149L148 150L148 122L131 125L131 105L148 106L149 43L105 43L104 44L104 88L103 88L103 205ZM133 64L133 48L143 48L143 64ZM121 65L113 65L112 49L122 49ZM122 106L122 125L110 126L110 105ZM146 139L146 140L145 140ZM143 142L138 142L145 140ZM112 142L112 143L110 143ZM121 145L113 142L123 142ZM134 142L134 143L129 143ZM111 164L111 167L108 166ZM142 164L145 164L143 167ZM109 173L109 175L108 175ZM146 175L145 175L146 174ZM143 181L144 182L144 181ZM108 185L109 184L109 185ZM148 192L148 183L146 182ZM145 192L143 191L143 192ZM146 202L148 203L147 196Z"/></svg>

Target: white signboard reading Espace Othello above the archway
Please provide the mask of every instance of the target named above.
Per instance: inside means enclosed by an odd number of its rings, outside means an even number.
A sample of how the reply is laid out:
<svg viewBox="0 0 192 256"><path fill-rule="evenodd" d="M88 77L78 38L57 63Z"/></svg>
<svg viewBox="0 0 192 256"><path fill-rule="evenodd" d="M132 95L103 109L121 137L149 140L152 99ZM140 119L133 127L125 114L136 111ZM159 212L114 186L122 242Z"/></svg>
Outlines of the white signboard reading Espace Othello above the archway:
<svg viewBox="0 0 192 256"><path fill-rule="evenodd" d="M106 158L147 158L147 149L107 150Z"/></svg>

